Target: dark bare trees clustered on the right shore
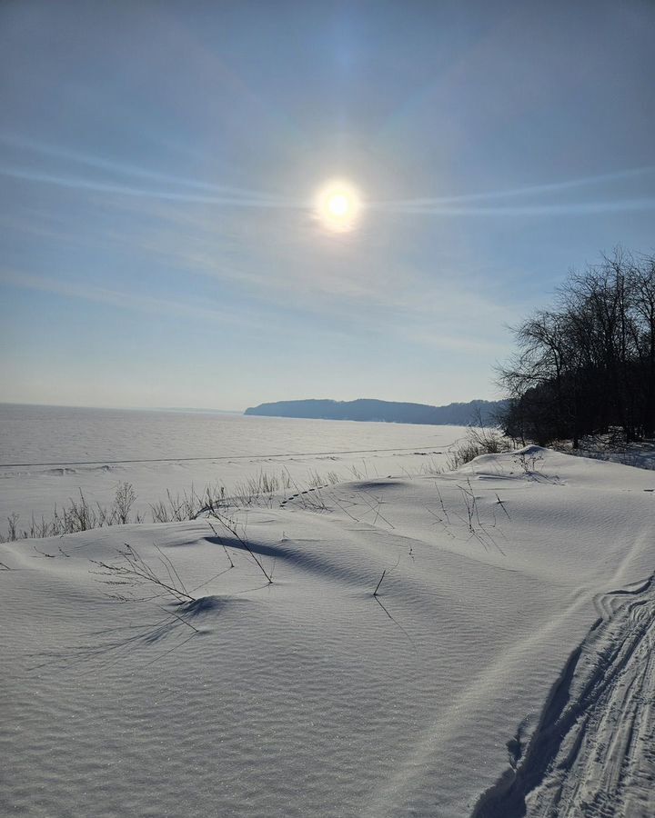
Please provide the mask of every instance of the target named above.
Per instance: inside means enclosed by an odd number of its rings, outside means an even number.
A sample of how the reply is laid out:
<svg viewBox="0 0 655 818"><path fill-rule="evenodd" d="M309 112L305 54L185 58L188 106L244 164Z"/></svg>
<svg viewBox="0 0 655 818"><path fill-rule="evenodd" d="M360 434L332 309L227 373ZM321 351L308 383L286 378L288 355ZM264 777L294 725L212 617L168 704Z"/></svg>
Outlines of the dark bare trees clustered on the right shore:
<svg viewBox="0 0 655 818"><path fill-rule="evenodd" d="M655 254L604 255L512 331L518 351L499 367L506 434L576 448L585 434L653 436Z"/></svg>

